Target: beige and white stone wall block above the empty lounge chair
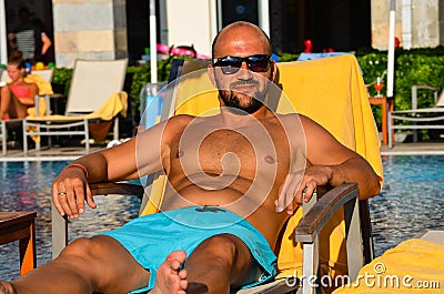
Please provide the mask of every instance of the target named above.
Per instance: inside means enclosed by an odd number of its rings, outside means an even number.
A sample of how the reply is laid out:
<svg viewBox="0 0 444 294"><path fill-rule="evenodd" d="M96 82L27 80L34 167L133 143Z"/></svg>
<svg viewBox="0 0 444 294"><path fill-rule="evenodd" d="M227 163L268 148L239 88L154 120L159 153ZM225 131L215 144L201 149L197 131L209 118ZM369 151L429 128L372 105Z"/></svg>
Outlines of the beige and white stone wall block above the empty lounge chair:
<svg viewBox="0 0 444 294"><path fill-rule="evenodd" d="M57 67L127 57L124 0L53 0Z"/></svg>

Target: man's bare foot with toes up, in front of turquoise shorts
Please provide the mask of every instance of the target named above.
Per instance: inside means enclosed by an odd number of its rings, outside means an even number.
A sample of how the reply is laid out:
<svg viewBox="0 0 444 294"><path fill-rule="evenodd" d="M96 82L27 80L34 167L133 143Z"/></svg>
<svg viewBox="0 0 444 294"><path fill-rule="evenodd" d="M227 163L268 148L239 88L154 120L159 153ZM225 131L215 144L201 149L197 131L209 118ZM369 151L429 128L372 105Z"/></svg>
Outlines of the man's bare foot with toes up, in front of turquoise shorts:
<svg viewBox="0 0 444 294"><path fill-rule="evenodd" d="M186 271L181 270L185 262L184 251L174 251L168 255L167 260L159 266L155 275L155 285L150 291L151 294L185 294L188 287Z"/></svg>

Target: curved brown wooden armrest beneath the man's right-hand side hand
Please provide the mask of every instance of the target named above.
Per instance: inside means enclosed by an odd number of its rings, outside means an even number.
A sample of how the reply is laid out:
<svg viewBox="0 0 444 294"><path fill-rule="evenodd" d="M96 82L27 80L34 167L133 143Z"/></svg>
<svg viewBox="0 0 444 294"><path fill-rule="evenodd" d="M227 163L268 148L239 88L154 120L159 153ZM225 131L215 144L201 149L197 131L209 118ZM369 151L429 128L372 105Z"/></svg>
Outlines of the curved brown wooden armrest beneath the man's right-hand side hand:
<svg viewBox="0 0 444 294"><path fill-rule="evenodd" d="M344 203L357 197L356 183L343 183L326 192L295 229L296 242L313 242L315 234Z"/></svg>

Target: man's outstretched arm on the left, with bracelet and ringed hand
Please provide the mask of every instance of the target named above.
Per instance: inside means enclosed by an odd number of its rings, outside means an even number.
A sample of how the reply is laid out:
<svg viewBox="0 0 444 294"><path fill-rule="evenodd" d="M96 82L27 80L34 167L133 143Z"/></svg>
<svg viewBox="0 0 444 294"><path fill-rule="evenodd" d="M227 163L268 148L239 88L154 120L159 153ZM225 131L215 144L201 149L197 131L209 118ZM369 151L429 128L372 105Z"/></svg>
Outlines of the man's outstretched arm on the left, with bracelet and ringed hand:
<svg viewBox="0 0 444 294"><path fill-rule="evenodd" d="M162 169L161 144L169 138L165 125L160 123L138 138L64 168L52 183L52 201L59 213L74 219L84 212L84 202L95 207L88 183L133 180Z"/></svg>

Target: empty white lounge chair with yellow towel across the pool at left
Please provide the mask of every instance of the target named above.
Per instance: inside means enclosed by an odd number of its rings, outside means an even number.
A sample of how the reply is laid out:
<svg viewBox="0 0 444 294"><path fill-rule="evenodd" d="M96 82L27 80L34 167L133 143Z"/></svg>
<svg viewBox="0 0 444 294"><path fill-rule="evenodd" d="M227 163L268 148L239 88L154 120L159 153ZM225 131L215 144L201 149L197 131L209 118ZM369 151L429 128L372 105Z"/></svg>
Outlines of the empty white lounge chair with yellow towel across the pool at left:
<svg viewBox="0 0 444 294"><path fill-rule="evenodd" d="M105 103L109 103L113 94L122 93L127 63L125 59L77 60L64 115L28 116L23 121L23 152L28 152L28 136L82 135L88 153L89 123L99 121L114 120L114 140L118 140L119 116L117 114L122 110L125 112L127 94L124 93L121 103L117 101L120 104L119 109L107 109ZM123 98L123 95L120 97ZM102 112L103 109L107 113L97 113L97 111ZM40 140L37 140L36 149L40 149Z"/></svg>

